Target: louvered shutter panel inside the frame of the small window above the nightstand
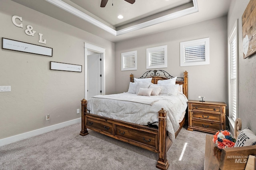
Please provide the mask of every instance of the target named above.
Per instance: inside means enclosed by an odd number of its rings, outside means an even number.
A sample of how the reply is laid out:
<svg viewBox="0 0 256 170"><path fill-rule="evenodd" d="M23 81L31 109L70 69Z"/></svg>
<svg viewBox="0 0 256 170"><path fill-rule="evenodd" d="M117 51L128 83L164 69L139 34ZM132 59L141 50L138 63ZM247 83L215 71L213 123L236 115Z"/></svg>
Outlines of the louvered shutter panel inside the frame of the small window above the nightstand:
<svg viewBox="0 0 256 170"><path fill-rule="evenodd" d="M184 62L205 61L205 45L184 48Z"/></svg>

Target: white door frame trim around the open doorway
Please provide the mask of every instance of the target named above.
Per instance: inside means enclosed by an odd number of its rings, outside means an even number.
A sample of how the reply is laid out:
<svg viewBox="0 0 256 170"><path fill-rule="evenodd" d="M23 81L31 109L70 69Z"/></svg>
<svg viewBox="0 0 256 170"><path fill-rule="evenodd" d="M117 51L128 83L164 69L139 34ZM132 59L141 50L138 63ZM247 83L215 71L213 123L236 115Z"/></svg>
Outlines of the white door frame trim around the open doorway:
<svg viewBox="0 0 256 170"><path fill-rule="evenodd" d="M88 50L89 51L94 51L97 53L100 53L102 55L102 94L105 95L105 51L106 49L102 47L98 47L96 45L90 44L90 43L84 43L84 98L88 100L88 67L87 67L87 55L88 55Z"/></svg>

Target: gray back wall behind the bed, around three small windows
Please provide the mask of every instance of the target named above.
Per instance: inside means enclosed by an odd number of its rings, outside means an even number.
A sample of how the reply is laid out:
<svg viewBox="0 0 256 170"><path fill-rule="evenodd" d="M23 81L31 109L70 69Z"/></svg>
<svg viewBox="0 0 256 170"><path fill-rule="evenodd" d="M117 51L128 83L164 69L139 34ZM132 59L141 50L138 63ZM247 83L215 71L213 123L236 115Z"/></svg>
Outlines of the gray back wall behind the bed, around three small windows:
<svg viewBox="0 0 256 170"><path fill-rule="evenodd" d="M210 64L180 67L180 42L210 38ZM116 92L127 92L129 75L140 77L146 69L146 49L167 45L168 68L173 76L188 71L188 99L228 102L227 18L221 17L193 25L116 43ZM137 50L137 70L121 71L121 53Z"/></svg>

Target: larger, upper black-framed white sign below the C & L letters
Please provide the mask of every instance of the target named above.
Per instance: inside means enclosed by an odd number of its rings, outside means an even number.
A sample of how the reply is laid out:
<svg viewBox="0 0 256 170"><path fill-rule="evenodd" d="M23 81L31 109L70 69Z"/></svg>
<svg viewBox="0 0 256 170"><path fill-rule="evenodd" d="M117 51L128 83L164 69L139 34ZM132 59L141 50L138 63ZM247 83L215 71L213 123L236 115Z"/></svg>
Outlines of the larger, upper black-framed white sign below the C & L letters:
<svg viewBox="0 0 256 170"><path fill-rule="evenodd" d="M52 48L40 45L16 41L2 37L2 49L9 49L14 51L22 51L26 53L33 53L39 55L46 55L52 57Z"/></svg>

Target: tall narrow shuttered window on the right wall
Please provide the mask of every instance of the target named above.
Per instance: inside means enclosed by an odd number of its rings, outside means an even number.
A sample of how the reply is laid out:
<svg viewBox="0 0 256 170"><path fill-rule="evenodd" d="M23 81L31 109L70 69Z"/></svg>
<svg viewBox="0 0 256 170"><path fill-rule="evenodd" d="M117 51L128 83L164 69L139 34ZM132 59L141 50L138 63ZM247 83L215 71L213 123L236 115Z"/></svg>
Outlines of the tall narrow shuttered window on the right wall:
<svg viewBox="0 0 256 170"><path fill-rule="evenodd" d="M238 56L238 33L237 33L237 21L234 24L232 32L228 37L228 64L229 64L229 71L228 71L228 79L229 79L229 118L232 121L236 120L237 114L237 70L238 70L238 63L237 63L237 56Z"/></svg>

